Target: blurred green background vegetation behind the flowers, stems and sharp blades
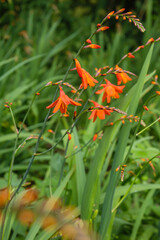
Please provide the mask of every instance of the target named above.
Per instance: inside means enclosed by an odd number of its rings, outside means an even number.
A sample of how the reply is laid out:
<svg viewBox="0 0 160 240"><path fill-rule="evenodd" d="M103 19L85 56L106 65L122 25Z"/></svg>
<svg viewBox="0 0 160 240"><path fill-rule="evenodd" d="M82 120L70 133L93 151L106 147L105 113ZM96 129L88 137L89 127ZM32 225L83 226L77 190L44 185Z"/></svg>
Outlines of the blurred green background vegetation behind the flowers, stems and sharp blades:
<svg viewBox="0 0 160 240"><path fill-rule="evenodd" d="M114 67L121 57L133 51L136 47L145 44L149 38L153 37L157 39L160 37L159 0L0 0L1 186L5 186L7 183L8 170L16 137L10 112L4 108L5 102L13 102L12 108L17 127L19 128L34 93L49 81L57 82L62 80L73 57L81 44L95 29L96 24L110 11L116 11L121 8L126 8L126 11L133 11L143 23L146 31L142 33L133 23L128 23L122 19L118 21L115 19L107 21L106 25L108 25L110 29L97 34L93 39L94 43L101 45L101 49L86 49L82 51L82 54L79 56L82 66L91 74L94 73L95 67L103 67L106 65ZM135 59L126 59L120 67L138 75L147 52L148 48L141 50L136 54ZM156 43L149 73L156 70L156 74L159 75L159 63L160 44ZM67 80L74 86L79 85L79 78L73 72L69 74ZM136 78L133 78L131 85L135 82ZM150 92L144 96L142 102L157 90L154 86L150 88L150 85L151 81L148 81L145 85L145 89L150 89ZM31 134L35 136L39 134L47 113L46 106L51 103L55 89L55 87L47 88L36 98L29 117L23 126L19 144L22 144L24 139ZM66 92L68 91L67 88L65 90ZM89 96L90 92L89 89L86 94ZM88 96L85 97L87 98ZM158 98L151 101L148 107L151 109L150 114L144 115L144 121L147 125L160 116ZM100 121L97 122L96 125L93 126L92 123L88 123L88 117L82 118L79 121L78 134L82 144L86 143L86 140L92 137L98 129L101 123ZM57 114L54 118L51 118L47 123L47 129L51 128L56 131L56 136L53 136L52 139L52 136L46 130L43 141L40 143L39 151L45 151L52 146L53 143L59 139L64 129L67 129L71 123L72 117L64 119L59 118ZM144 133L143 142L141 142L141 139L135 142L130 159L129 168L131 168L131 170L137 171L137 166L139 167L141 164L138 162L139 157L150 156L153 155L152 153L158 151L159 139L160 131L157 123ZM12 184L15 187L18 185L20 178L28 166L35 142L36 139L28 141L23 148L19 149L16 155L12 179ZM63 143L58 144L54 156L50 156L50 154L39 156L32 165L28 179L34 183L37 188L41 189L42 195L49 195L48 182L51 182L51 175L54 175L52 180L53 189L56 188L64 155L65 142L66 139ZM87 151L84 153L86 172L89 169L89 163L92 160L93 152L97 145L97 143L93 143L91 150L88 153ZM148 149L148 151L146 151L146 149ZM111 149L111 154L112 153L114 153L113 149ZM153 171L150 168L137 179L137 184L146 182L154 183L158 181L160 166L157 162L156 169L158 174L153 176ZM108 168L109 170L110 166L111 165L109 165ZM66 168L66 172L67 170ZM104 178L107 174L108 173L103 172L102 177ZM134 176L127 175L124 185L129 184L132 177ZM127 201L122 205L122 208L118 211L118 217L116 218L113 231L115 233L115 239L117 239L116 237L119 233L122 237L119 239L128 239L127 234L130 234L139 207L146 197L145 192L140 193L140 195L138 194L139 193L135 194L133 198L129 196ZM142 231L142 234L140 234L141 238L139 238L140 240L149 239L149 234L151 234L152 239L158 239L157 229L160 229L160 212L157 206L159 205L155 204L152 206L152 201L159 204L158 194L159 190L157 190L154 198L150 201L150 208L147 209L147 217L144 219L144 224L142 224L141 228L144 230L147 227L150 233L148 233L148 238L146 238L145 230ZM69 198L69 196L66 196L66 201L69 202ZM135 209L133 208L133 202ZM147 222L146 225L145 221ZM118 226L116 223L118 223ZM153 226L154 224L155 226Z"/></svg>

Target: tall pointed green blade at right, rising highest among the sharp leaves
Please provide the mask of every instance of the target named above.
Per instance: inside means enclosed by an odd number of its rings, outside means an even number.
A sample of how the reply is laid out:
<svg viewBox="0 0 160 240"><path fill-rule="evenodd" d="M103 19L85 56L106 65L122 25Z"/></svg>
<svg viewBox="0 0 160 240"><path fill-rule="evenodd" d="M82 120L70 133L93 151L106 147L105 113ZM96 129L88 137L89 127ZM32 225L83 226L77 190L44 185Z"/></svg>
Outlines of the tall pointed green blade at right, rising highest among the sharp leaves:
<svg viewBox="0 0 160 240"><path fill-rule="evenodd" d="M140 75L136 84L134 98L127 112L128 115L131 115L131 114L135 115L136 109L138 107L138 102L143 90L145 76L148 72L148 68L149 68L149 64L152 56L153 46L154 45L152 44L147 54L146 60L143 64L142 70L140 72ZM119 141L118 141L115 157L113 160L110 180L106 190L105 200L102 208L102 217L101 217L101 224L100 224L100 233L101 233L102 239L105 239L108 226L110 223L113 196L114 196L114 192L116 189L118 176L119 176L119 174L115 171L115 169L118 166L122 165L123 163L124 153L127 146L130 130L131 130L131 125L126 123L125 125L123 125L119 133Z"/></svg>

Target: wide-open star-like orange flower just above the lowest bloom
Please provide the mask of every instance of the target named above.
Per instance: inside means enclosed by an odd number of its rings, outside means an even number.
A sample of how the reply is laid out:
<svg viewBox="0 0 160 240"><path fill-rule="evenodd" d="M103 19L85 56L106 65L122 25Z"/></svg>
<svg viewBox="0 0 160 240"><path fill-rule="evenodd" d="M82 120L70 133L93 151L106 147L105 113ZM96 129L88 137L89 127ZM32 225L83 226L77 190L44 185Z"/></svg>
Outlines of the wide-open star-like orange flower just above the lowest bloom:
<svg viewBox="0 0 160 240"><path fill-rule="evenodd" d="M106 84L101 84L100 86L103 87L103 89L98 90L96 92L96 94L101 94L103 93L103 97L102 97L102 102L105 101L105 99L107 98L107 103L110 103L111 101L111 97L112 98L119 98L119 94L118 93L122 93L123 92L123 88L125 87L123 86L116 86L114 84L112 84L110 81L108 81L107 79L105 79Z"/></svg>

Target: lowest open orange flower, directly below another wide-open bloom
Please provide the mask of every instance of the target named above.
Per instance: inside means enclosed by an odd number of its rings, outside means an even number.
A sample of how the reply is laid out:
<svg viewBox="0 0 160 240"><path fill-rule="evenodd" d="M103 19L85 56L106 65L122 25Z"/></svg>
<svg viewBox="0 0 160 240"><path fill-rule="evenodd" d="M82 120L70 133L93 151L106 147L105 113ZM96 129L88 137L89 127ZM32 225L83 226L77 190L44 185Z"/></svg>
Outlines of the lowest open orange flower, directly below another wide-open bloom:
<svg viewBox="0 0 160 240"><path fill-rule="evenodd" d="M105 115L110 115L110 113L112 112L111 110L107 110L104 108L104 106L98 104L97 102L94 102L92 100L90 100L90 102L92 102L94 104L94 107L96 109L91 110L91 116L88 119L92 119L93 118L93 122L96 121L96 118L99 117L101 120L105 119Z"/></svg>

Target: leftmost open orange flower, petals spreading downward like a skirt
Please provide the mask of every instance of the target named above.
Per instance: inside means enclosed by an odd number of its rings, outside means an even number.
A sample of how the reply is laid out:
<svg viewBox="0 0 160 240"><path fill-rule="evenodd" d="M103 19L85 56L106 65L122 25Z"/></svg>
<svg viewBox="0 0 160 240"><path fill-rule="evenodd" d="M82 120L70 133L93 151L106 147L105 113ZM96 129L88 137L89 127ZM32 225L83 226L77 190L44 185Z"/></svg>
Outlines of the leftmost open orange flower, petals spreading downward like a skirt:
<svg viewBox="0 0 160 240"><path fill-rule="evenodd" d="M61 113L66 113L67 112L67 107L69 104L72 104L74 106L81 106L80 103L77 103L75 101L73 101L71 98L69 98L64 91L62 90L62 87L60 86L60 96L58 97L58 99L51 103L49 106L47 106L46 108L54 108L53 113L56 113L59 109L61 111Z"/></svg>

